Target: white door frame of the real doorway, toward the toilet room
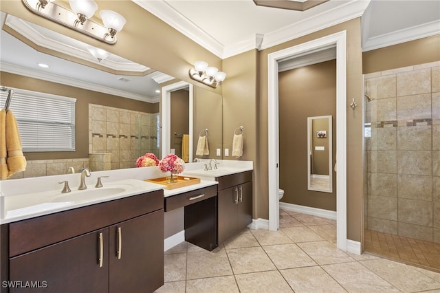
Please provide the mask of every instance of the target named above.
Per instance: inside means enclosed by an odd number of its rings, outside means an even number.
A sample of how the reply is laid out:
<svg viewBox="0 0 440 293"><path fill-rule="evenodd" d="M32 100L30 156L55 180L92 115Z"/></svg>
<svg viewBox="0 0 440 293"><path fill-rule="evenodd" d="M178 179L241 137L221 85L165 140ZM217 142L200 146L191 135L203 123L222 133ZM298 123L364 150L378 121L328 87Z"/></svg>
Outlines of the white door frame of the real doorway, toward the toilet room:
<svg viewBox="0 0 440 293"><path fill-rule="evenodd" d="M347 251L347 31L302 43L268 57L269 230L279 228L278 62L336 47L336 235L339 249Z"/></svg>

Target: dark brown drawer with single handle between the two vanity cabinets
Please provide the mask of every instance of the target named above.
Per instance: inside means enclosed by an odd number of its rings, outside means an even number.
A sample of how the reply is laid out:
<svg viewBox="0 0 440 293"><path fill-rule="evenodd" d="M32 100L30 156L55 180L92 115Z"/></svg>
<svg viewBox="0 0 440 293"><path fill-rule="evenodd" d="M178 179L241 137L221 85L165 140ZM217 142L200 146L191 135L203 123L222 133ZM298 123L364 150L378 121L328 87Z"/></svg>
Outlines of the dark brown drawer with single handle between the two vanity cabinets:
<svg viewBox="0 0 440 293"><path fill-rule="evenodd" d="M176 208L188 206L216 195L217 186L214 185L206 188L196 189L195 191L188 191L187 193L180 193L179 195L165 197L165 211L168 212L169 210L175 210Z"/></svg>

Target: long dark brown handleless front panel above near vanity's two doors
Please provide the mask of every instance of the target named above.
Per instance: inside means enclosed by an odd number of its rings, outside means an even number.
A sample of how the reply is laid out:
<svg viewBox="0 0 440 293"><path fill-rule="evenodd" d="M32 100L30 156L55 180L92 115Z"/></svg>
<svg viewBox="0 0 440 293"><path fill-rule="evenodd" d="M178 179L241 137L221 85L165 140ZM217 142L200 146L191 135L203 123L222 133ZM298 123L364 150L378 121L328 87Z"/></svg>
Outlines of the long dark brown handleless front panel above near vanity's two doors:
<svg viewBox="0 0 440 293"><path fill-rule="evenodd" d="M163 190L17 221L9 224L9 256L14 257L161 208L164 208Z"/></svg>

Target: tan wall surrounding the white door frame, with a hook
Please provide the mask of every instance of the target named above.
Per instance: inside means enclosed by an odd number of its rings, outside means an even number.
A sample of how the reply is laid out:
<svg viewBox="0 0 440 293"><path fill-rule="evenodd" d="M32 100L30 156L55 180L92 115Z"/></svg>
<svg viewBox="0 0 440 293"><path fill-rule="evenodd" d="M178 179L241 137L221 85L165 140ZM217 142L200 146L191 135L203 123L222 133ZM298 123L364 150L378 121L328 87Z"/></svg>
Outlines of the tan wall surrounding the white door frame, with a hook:
<svg viewBox="0 0 440 293"><path fill-rule="evenodd" d="M259 140L256 166L259 173L255 191L256 218L268 219L267 185L267 55L287 47L299 45L336 32L347 30L347 237L361 240L362 232L362 105L354 111L349 107L352 98L362 95L362 50L360 40L360 19L353 19L331 28L307 34L298 39L262 50L259 56Z"/></svg>

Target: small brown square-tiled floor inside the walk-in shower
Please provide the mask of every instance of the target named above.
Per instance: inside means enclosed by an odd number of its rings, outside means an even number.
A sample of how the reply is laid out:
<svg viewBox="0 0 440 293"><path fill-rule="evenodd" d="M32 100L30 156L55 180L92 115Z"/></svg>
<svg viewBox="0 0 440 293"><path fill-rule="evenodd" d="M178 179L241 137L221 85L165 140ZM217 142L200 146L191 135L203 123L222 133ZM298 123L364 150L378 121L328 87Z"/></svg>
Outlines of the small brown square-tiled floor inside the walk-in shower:
<svg viewBox="0 0 440 293"><path fill-rule="evenodd" d="M364 250L440 272L440 243L366 229Z"/></svg>

